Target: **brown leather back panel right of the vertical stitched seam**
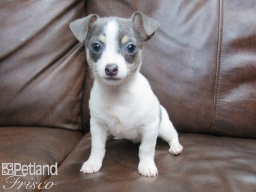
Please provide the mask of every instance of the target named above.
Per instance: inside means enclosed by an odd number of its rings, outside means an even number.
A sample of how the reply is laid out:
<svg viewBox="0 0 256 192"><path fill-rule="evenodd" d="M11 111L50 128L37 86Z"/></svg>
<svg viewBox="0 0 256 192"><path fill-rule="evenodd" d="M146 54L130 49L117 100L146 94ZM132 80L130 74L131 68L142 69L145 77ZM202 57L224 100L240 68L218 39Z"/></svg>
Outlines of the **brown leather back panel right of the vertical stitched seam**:
<svg viewBox="0 0 256 192"><path fill-rule="evenodd" d="M256 138L256 3L254 0L220 2L211 133Z"/></svg>

